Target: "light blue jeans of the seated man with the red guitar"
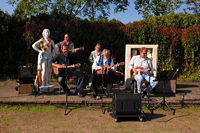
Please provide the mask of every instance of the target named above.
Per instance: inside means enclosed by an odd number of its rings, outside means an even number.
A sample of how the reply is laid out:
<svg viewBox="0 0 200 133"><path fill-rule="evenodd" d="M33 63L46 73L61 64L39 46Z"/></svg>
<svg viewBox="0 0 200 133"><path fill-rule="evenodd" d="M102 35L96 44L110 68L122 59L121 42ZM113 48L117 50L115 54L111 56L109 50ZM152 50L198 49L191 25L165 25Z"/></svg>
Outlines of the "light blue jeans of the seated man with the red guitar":
<svg viewBox="0 0 200 133"><path fill-rule="evenodd" d="M146 80L150 83L150 85L147 88L145 88L145 91L147 93L151 92L153 90L153 88L158 84L158 81L154 81L155 77L149 76L148 74L146 74L144 72L141 75L135 75L134 78L137 82L137 92L138 93L142 92L142 83L144 82L144 80Z"/></svg>

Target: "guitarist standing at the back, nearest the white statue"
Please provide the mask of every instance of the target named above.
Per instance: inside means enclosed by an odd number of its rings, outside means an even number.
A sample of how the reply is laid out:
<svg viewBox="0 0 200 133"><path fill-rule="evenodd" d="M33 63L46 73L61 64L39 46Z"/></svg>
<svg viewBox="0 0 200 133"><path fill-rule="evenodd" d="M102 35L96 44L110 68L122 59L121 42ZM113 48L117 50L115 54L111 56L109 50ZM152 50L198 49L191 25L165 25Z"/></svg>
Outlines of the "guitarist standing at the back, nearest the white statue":
<svg viewBox="0 0 200 133"><path fill-rule="evenodd" d="M79 51L79 50L84 50L84 47L74 48L74 43L70 40L69 34L65 34L65 35L64 35L64 40L56 44L57 48L58 48L58 49L59 49L59 48L61 49L61 46L62 46L64 43L65 43L66 45L68 45L68 47L69 47L69 50L68 50L68 51L69 51L70 53L75 53L75 52L77 52L77 51Z"/></svg>

